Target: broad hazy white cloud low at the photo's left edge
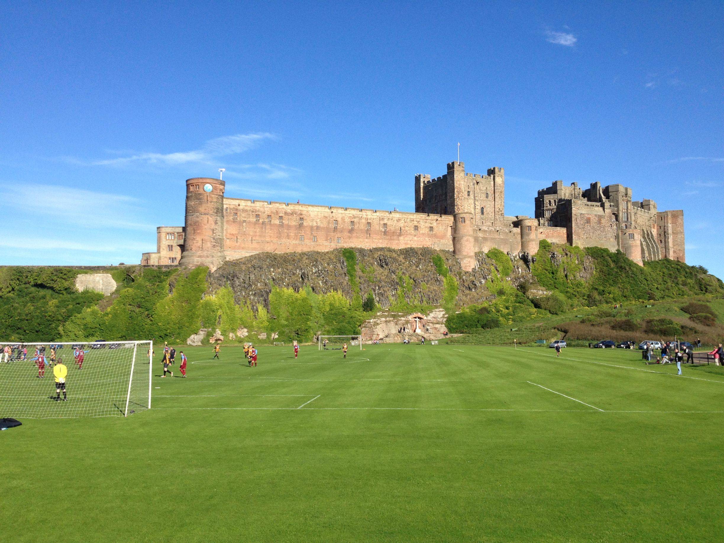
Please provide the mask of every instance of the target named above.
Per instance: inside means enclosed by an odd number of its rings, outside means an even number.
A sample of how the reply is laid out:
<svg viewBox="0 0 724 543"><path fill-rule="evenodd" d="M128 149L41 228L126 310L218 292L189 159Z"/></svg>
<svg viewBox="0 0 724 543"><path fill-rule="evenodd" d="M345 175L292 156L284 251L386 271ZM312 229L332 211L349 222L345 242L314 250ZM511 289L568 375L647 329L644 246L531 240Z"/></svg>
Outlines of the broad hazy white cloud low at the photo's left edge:
<svg viewBox="0 0 724 543"><path fill-rule="evenodd" d="M153 230L138 219L140 201L127 195L94 190L40 185L35 183L0 185L0 201L17 216L33 216L38 223L122 230Z"/></svg>

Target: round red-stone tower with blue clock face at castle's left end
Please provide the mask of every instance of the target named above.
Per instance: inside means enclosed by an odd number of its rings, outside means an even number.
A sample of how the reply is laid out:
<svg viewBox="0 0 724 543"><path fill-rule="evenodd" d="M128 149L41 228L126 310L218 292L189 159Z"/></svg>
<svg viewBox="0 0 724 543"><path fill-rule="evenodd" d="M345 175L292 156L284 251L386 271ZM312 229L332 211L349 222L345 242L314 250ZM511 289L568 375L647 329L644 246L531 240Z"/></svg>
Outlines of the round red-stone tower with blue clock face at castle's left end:
<svg viewBox="0 0 724 543"><path fill-rule="evenodd" d="M186 180L186 240L179 264L209 266L224 262L224 182L210 177Z"/></svg>

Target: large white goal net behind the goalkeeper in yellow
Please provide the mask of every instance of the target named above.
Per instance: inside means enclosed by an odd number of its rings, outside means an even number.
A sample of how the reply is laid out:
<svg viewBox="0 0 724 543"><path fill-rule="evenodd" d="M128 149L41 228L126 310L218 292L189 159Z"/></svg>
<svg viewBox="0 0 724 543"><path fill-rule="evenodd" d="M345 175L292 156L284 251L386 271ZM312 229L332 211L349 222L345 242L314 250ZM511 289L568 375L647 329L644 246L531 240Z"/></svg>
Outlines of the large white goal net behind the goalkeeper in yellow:
<svg viewBox="0 0 724 543"><path fill-rule="evenodd" d="M150 341L0 342L0 353L0 417L128 416L151 408ZM54 375L60 363L64 387Z"/></svg>

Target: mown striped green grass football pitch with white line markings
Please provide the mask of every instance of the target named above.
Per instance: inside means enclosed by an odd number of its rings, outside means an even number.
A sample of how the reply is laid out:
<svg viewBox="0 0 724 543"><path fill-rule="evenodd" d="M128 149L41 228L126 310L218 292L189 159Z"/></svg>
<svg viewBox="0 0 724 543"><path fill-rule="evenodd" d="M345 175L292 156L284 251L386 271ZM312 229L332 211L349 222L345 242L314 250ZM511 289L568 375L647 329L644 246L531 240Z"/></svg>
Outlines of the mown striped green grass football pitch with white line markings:
<svg viewBox="0 0 724 543"><path fill-rule="evenodd" d="M256 368L184 351L187 379L154 361L150 411L0 432L0 540L724 539L717 371L573 348L260 347Z"/></svg>

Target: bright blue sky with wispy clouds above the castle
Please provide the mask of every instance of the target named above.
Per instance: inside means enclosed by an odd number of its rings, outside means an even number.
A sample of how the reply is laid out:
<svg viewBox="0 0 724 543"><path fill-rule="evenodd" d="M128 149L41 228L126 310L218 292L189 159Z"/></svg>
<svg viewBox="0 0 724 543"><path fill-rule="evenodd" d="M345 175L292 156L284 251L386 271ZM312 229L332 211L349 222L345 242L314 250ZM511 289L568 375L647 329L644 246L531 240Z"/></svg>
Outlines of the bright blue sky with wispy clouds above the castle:
<svg viewBox="0 0 724 543"><path fill-rule="evenodd" d="M572 5L576 4L576 5ZM721 2L12 2L0 264L137 263L184 182L412 211L416 173L504 167L683 209L724 277Z"/></svg>

